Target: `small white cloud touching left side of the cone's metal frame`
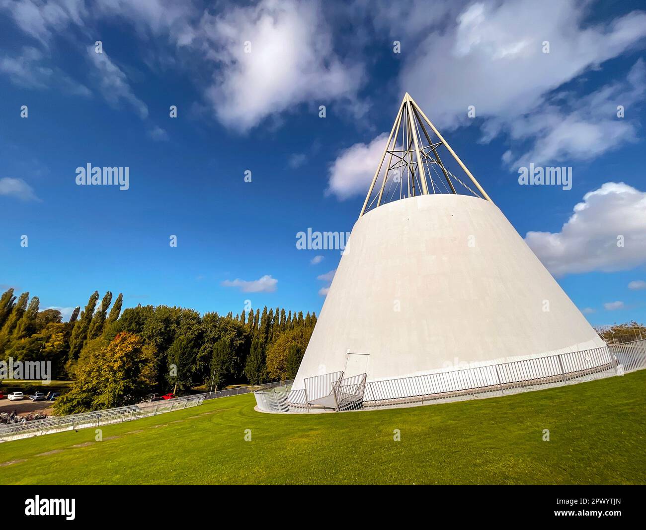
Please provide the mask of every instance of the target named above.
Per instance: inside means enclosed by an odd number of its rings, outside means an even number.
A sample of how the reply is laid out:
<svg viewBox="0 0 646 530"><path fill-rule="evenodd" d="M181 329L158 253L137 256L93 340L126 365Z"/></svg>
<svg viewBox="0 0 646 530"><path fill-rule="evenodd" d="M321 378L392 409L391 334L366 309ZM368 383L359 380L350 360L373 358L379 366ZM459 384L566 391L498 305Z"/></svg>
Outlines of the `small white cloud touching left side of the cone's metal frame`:
<svg viewBox="0 0 646 530"><path fill-rule="evenodd" d="M388 133L382 133L370 144L354 144L342 151L329 170L326 195L334 194L343 201L368 193L387 140Z"/></svg>

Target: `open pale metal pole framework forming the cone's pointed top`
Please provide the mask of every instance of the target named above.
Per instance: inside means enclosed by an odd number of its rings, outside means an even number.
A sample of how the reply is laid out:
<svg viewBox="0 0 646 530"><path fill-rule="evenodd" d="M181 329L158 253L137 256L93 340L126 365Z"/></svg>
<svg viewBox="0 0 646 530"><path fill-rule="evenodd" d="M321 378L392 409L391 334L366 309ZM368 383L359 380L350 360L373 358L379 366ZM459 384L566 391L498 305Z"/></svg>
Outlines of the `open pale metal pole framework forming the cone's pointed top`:
<svg viewBox="0 0 646 530"><path fill-rule="evenodd" d="M437 137L437 141L433 142L424 123L430 127L432 134ZM455 162L462 168L477 192L444 166L438 153L438 148L442 146L448 150ZM388 155L388 163L384 166L386 155ZM379 190L375 190L375 184L380 175L383 175L381 185ZM466 189L476 197L491 201L471 171L466 168L462 160L407 92L399 106L397 118L395 118L395 123L390 131L386 148L381 155L379 166L375 171L359 217L372 208L404 197L428 195L429 193L457 194L456 186L460 191Z"/></svg>

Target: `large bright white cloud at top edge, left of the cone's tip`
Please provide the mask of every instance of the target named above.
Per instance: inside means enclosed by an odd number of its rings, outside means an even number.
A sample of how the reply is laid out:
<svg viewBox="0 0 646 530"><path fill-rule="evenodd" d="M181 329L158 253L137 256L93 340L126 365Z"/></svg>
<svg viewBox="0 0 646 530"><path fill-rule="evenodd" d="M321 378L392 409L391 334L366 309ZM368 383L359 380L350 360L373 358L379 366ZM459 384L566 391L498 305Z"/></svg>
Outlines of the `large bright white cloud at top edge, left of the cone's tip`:
<svg viewBox="0 0 646 530"><path fill-rule="evenodd" d="M298 104L351 99L362 79L360 67L333 50L317 2L262 0L218 16L205 13L191 45L217 66L207 101L220 122L239 131Z"/></svg>

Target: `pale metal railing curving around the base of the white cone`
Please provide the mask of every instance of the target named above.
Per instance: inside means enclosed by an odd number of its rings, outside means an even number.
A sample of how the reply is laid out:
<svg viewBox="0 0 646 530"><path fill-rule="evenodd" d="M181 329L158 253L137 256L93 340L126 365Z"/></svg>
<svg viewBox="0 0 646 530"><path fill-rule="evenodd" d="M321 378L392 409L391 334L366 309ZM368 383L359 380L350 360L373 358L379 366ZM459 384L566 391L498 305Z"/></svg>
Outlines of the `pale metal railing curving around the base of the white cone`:
<svg viewBox="0 0 646 530"><path fill-rule="evenodd" d="M340 406L336 410L393 408L528 392L623 375L644 368L646 339L384 381L365 382L364 379L361 382L358 376L341 379L335 373L329 379L335 379L337 384L332 384L329 391L334 392L338 386L339 392L344 394L341 401L337 401ZM362 399L357 399L360 393ZM291 386L256 392L255 397L258 408L267 412L315 411L305 391Z"/></svg>

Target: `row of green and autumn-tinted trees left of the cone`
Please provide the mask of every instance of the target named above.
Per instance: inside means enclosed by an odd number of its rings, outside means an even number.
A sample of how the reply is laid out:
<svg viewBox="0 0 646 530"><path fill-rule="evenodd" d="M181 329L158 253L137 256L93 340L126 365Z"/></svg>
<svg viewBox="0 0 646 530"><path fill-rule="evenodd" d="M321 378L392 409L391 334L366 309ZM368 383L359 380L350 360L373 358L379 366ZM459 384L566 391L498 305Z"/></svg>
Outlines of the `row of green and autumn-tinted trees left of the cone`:
<svg viewBox="0 0 646 530"><path fill-rule="evenodd" d="M0 359L48 361L52 379L72 379L56 402L59 414L137 403L149 392L187 393L204 384L293 379L317 322L315 313L276 307L233 316L167 305L121 311L98 291L68 322L60 311L39 311L37 296L0 298Z"/></svg>

